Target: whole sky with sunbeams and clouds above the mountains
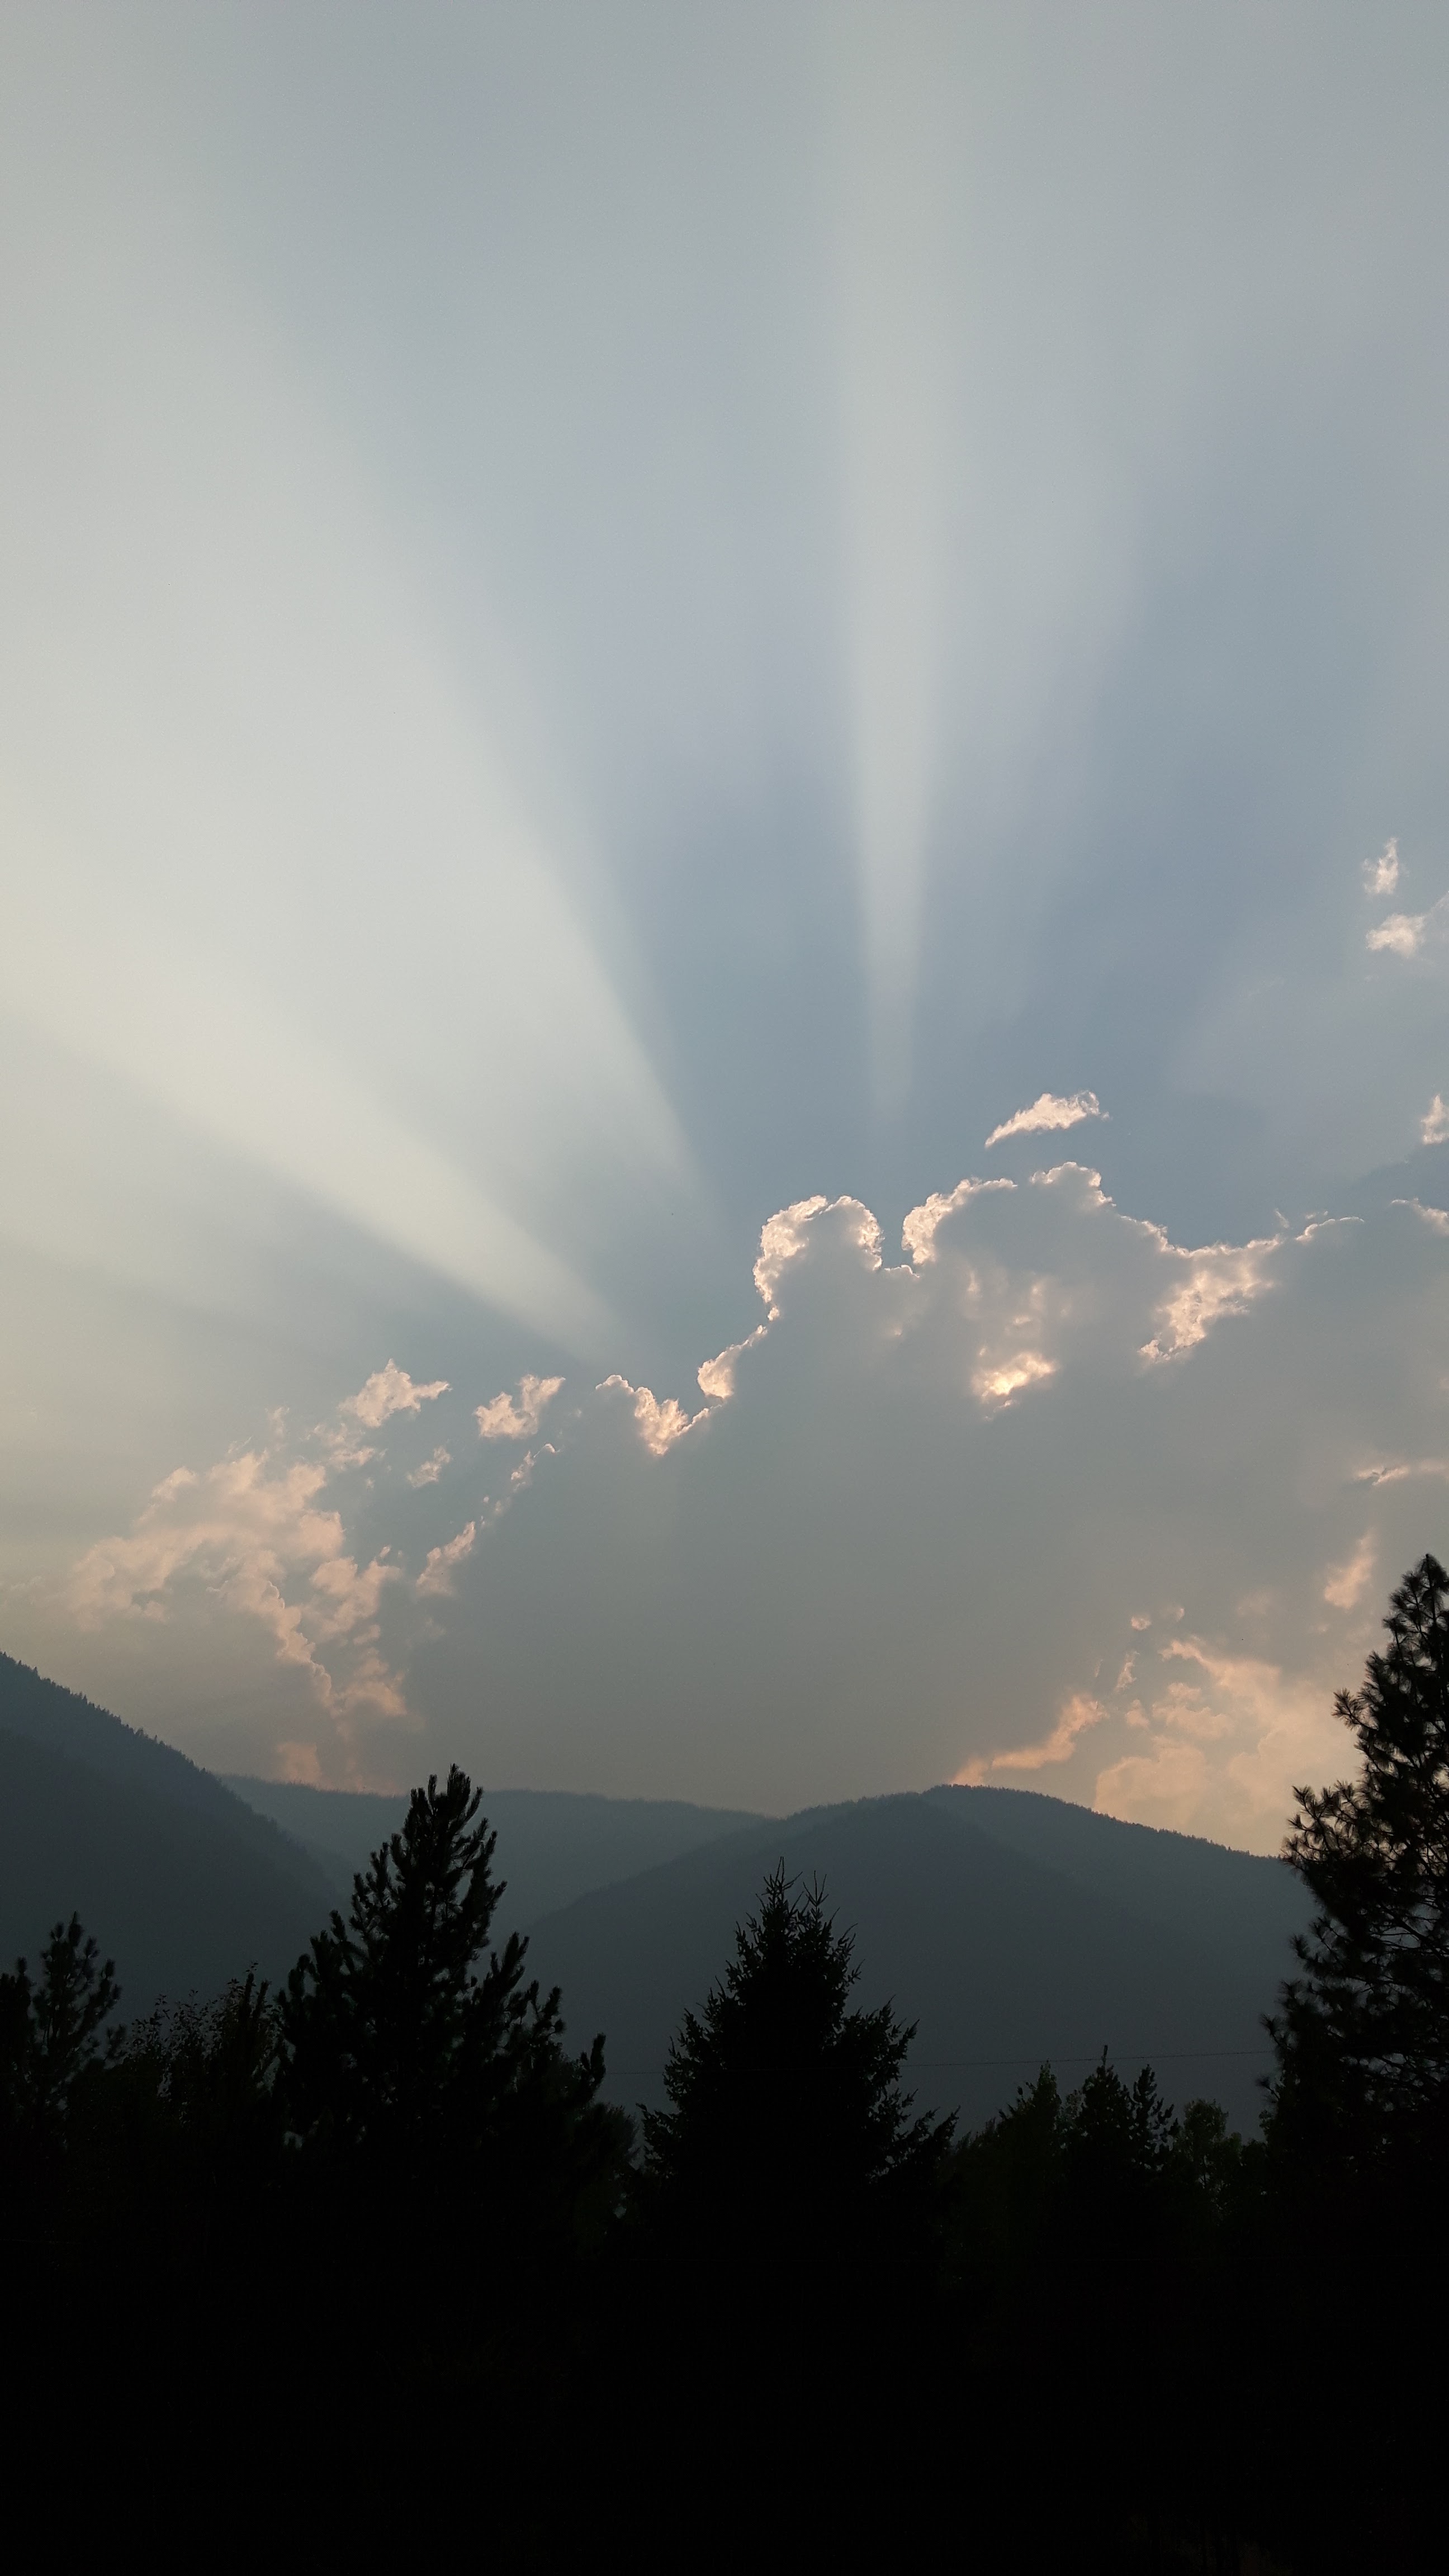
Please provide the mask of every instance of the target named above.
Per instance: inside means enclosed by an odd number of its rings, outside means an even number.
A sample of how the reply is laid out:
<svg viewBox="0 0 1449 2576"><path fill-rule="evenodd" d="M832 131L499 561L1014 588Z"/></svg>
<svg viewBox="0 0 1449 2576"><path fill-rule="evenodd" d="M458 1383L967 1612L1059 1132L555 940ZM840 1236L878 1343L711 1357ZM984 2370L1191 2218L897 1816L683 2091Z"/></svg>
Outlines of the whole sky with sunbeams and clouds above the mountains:
<svg viewBox="0 0 1449 2576"><path fill-rule="evenodd" d="M1449 1558L1436 5L0 13L0 1646L1253 1850Z"/></svg>

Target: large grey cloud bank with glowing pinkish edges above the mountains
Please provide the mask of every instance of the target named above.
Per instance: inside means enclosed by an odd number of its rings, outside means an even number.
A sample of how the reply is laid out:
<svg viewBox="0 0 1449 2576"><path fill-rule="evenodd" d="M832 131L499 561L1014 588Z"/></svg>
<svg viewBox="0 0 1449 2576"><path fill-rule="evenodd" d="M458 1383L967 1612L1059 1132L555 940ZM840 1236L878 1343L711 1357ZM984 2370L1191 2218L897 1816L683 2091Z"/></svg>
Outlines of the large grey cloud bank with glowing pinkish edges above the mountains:
<svg viewBox="0 0 1449 2576"><path fill-rule="evenodd" d="M222 1767L773 1808L995 1777L1271 1850L1444 1517L1436 1213L1183 1249L1062 1162L936 1193L890 1260L802 1200L699 1404L389 1360L31 1605ZM209 1659L250 1690L186 1723Z"/></svg>

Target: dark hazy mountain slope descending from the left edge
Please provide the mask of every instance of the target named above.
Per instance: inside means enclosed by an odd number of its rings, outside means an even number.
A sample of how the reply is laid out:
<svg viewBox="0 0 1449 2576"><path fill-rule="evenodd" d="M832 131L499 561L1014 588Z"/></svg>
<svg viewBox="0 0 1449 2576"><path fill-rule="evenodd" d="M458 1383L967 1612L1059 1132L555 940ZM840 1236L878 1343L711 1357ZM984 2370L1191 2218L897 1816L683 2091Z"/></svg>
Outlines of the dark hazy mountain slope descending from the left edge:
<svg viewBox="0 0 1449 2576"><path fill-rule="evenodd" d="M325 1922L317 1862L219 1780L0 1654L0 1965L80 1914L121 2012L281 1976Z"/></svg>

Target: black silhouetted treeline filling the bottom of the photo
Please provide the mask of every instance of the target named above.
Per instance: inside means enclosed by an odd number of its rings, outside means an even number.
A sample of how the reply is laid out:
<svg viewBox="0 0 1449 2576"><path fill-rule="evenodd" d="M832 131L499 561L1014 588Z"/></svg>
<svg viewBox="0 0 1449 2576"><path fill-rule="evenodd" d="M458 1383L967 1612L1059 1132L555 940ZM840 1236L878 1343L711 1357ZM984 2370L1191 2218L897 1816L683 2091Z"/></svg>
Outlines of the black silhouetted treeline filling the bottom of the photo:
<svg viewBox="0 0 1449 2576"><path fill-rule="evenodd" d="M1150 2071L918 2115L822 1888L766 1880L606 2099L480 1798L418 1788L281 1994L116 2027L77 1922L0 1978L10 2494L46 2555L552 2568L1441 2563L1449 1577L1299 1790L1320 1906L1261 2136Z"/></svg>

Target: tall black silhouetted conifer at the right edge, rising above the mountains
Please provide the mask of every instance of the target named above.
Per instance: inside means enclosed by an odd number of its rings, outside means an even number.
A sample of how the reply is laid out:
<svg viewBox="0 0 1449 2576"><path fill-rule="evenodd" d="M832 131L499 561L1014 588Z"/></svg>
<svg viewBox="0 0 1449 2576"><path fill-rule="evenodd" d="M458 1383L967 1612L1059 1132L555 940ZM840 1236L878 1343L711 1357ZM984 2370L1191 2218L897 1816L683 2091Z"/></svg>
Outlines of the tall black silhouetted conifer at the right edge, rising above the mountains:
<svg viewBox="0 0 1449 2576"><path fill-rule="evenodd" d="M1294 1790L1284 1852L1318 1899L1269 2020L1279 2146L1428 2174L1449 2146L1449 1574L1405 1574L1359 1692L1361 1775Z"/></svg>

